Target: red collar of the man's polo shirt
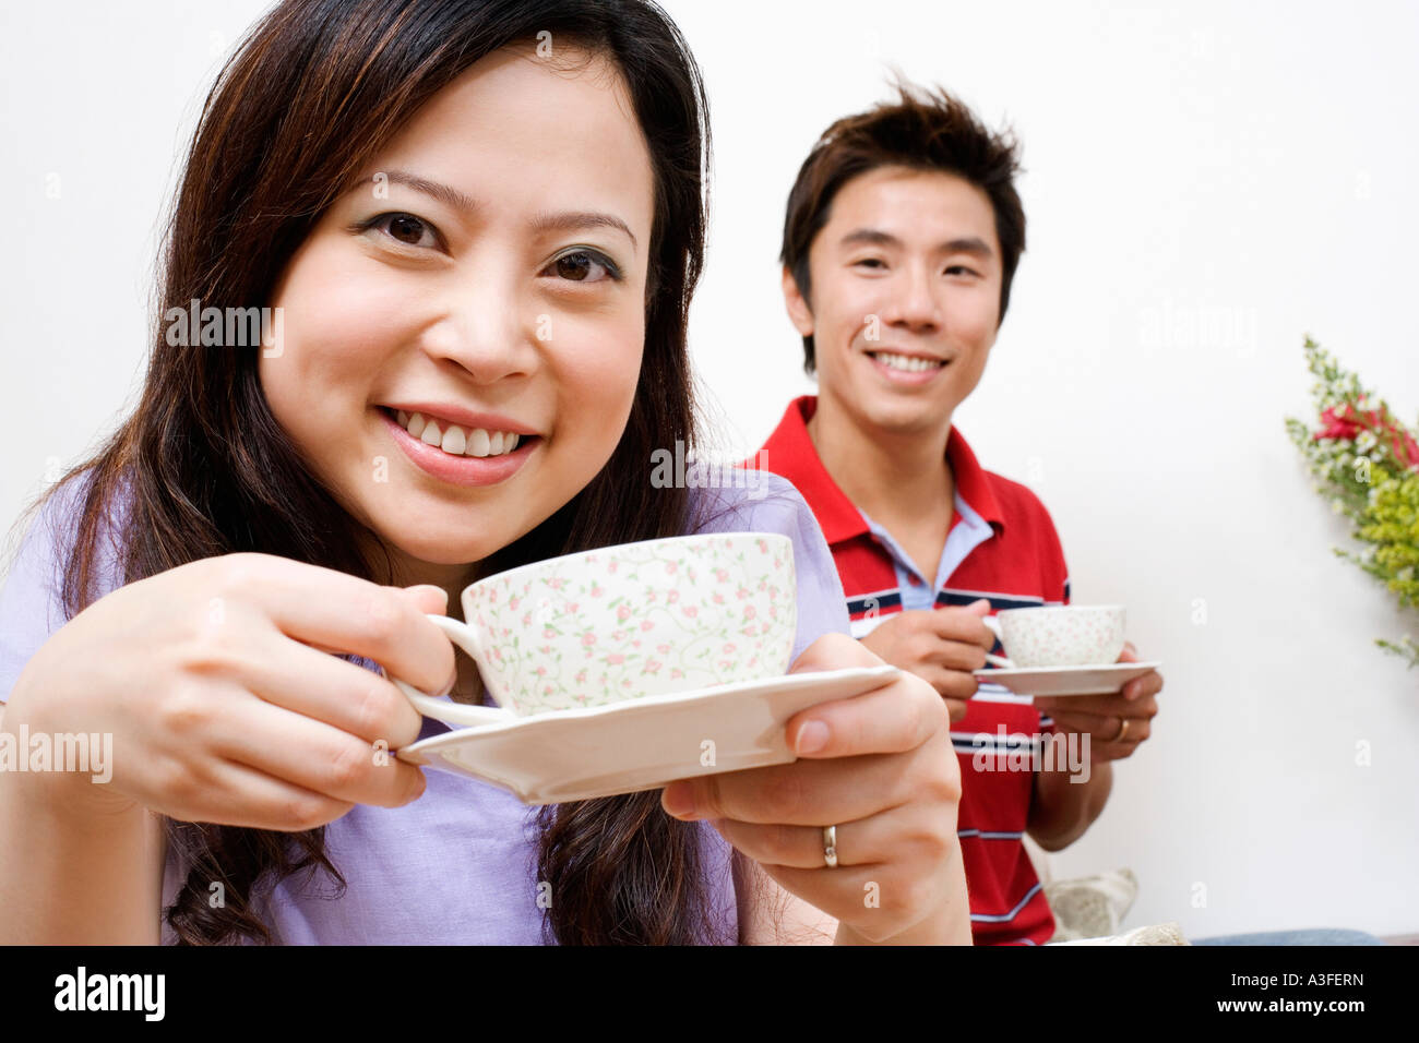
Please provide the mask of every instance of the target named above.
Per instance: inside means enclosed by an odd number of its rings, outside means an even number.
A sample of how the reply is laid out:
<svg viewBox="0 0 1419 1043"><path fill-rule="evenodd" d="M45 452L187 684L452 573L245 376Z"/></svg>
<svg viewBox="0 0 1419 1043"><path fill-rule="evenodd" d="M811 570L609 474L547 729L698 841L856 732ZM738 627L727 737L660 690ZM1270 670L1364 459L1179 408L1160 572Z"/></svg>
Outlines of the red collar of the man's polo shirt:
<svg viewBox="0 0 1419 1043"><path fill-rule="evenodd" d="M823 538L829 543L841 543L853 536L867 535L870 529L863 512L853 505L853 501L823 467L813 438L809 437L807 421L813 419L816 410L817 396L805 394L793 399L783 410L783 419L773 434L763 443L762 456L759 460L751 460L749 465L773 471L793 482L817 518ZM946 460L951 464L956 495L969 504L976 514L1003 531L1005 518L995 500L995 492L990 490L975 453L971 451L955 426L951 427L951 434L946 438Z"/></svg>

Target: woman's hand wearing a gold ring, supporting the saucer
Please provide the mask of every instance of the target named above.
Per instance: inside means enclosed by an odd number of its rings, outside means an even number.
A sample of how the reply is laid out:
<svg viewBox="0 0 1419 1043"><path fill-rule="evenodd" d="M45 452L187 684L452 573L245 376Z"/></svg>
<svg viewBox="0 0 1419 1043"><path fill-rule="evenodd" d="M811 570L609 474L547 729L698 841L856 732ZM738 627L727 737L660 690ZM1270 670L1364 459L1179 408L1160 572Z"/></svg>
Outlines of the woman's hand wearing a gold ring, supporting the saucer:
<svg viewBox="0 0 1419 1043"><path fill-rule="evenodd" d="M843 634L826 634L792 673L880 666ZM710 819L785 890L839 921L839 941L971 941L956 806L961 773L946 707L902 673L876 691L793 717L799 761L683 779L661 802L678 819ZM824 860L836 826L837 866Z"/></svg>

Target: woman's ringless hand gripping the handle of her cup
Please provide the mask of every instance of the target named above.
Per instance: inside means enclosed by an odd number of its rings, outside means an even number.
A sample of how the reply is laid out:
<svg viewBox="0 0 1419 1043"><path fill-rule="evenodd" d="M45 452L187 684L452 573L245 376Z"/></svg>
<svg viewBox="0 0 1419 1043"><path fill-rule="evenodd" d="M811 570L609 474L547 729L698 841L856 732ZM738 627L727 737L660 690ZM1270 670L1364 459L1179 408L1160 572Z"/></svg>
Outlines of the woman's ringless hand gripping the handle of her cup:
<svg viewBox="0 0 1419 1043"><path fill-rule="evenodd" d="M390 752L420 717L392 681L328 651L438 691L453 646L424 613L444 600L271 555L193 562L61 627L26 666L6 725L112 735L111 780L60 783L68 809L294 832L355 803L396 807L424 790Z"/></svg>

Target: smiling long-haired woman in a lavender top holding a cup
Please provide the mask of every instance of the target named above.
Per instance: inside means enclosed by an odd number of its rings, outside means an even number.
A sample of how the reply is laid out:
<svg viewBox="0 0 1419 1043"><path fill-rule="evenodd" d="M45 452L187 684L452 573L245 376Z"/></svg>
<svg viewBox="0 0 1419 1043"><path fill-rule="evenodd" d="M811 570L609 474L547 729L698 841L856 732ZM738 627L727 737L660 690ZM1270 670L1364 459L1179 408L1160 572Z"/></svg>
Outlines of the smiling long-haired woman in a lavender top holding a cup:
<svg viewBox="0 0 1419 1043"><path fill-rule="evenodd" d="M792 765L535 822L369 755L441 729L376 664L477 698L424 613L517 563L778 528L796 653L832 629L789 487L748 508L648 481L692 444L707 139L646 3L292 0L253 30L187 160L142 400L45 504L62 605L37 526L0 606L7 634L41 624L7 636L6 729L114 735L108 785L0 776L0 894L26 895L0 941L969 939L955 756L915 678L800 714ZM193 299L274 329L175 336ZM827 634L793 668L876 661Z"/></svg>

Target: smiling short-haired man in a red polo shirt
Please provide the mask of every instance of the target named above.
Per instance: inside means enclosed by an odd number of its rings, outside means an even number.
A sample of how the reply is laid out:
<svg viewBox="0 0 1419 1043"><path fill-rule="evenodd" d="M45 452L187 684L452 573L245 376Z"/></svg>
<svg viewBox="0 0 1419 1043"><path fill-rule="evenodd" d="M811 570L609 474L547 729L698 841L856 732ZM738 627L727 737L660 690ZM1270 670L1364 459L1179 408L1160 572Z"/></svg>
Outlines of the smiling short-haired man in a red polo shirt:
<svg viewBox="0 0 1419 1043"><path fill-rule="evenodd" d="M951 705L976 944L1054 934L1022 836L1057 850L1088 829L1111 762L1148 738L1162 688L1149 671L1115 695L1032 704L999 685L978 694L971 674L993 646L983 614L1069 603L1049 512L982 470L951 423L985 370L1025 248L1015 150L956 99L911 88L827 129L789 194L780 255L819 393L789 404L761 454L817 515L854 634ZM1137 661L1131 646L1120 661ZM1017 744L1009 736L1069 732L1077 749L1088 736L1083 771L1064 758L1006 771L993 756Z"/></svg>

